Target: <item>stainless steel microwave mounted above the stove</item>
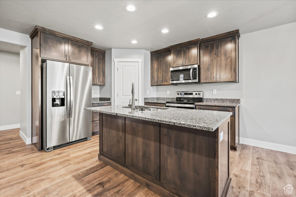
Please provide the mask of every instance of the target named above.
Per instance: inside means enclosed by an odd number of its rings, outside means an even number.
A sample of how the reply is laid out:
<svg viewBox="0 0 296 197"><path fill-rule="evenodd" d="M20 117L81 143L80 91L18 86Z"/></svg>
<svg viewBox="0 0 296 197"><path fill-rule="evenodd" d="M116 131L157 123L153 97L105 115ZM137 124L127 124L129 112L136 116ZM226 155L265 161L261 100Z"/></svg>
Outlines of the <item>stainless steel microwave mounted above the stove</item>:
<svg viewBox="0 0 296 197"><path fill-rule="evenodd" d="M170 68L172 85L199 83L198 64Z"/></svg>

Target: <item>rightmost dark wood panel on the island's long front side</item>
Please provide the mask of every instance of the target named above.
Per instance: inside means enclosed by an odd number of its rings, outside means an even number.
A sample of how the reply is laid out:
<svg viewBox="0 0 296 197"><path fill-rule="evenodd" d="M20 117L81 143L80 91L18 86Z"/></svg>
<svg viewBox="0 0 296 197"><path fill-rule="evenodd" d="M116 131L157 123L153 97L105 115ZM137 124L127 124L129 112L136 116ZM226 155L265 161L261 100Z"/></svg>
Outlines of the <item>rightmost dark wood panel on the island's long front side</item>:
<svg viewBox="0 0 296 197"><path fill-rule="evenodd" d="M161 123L160 181L189 196L216 196L215 133Z"/></svg>

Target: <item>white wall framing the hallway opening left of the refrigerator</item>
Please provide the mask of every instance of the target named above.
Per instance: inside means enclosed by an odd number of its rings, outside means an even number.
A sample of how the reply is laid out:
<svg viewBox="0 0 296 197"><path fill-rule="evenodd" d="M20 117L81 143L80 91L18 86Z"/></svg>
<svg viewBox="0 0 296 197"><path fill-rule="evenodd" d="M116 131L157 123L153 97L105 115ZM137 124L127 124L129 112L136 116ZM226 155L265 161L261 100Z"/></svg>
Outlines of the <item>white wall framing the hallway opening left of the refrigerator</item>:
<svg viewBox="0 0 296 197"><path fill-rule="evenodd" d="M0 41L20 47L20 136L31 143L31 39L29 35L0 28Z"/></svg>

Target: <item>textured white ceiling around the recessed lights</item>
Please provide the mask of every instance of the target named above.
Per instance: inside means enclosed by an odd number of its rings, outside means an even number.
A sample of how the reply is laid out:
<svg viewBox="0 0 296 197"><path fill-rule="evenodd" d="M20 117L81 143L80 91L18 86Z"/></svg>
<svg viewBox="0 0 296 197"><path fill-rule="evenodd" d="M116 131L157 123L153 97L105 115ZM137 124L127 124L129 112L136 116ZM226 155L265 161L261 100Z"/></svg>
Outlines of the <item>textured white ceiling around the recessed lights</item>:
<svg viewBox="0 0 296 197"><path fill-rule="evenodd" d="M135 4L136 12L127 12ZM206 14L219 12L215 18ZM239 29L296 21L296 1L0 1L0 27L30 34L35 25L92 41L99 49L153 51ZM103 30L97 30L99 24ZM168 28L169 33L160 33ZM130 43L137 40L137 44Z"/></svg>

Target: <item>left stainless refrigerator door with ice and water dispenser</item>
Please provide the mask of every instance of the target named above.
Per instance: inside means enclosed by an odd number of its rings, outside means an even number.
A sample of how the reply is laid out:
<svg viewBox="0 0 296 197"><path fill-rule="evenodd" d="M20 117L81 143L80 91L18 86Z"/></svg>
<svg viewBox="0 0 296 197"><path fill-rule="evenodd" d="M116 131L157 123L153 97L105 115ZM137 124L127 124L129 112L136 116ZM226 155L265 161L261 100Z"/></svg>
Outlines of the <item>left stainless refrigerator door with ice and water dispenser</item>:
<svg viewBox="0 0 296 197"><path fill-rule="evenodd" d="M47 60L42 64L43 72L43 101L46 100L46 111L43 112L45 120L43 129L46 134L46 148L69 142L69 118L67 118L67 76L69 76L69 64ZM68 83L69 84L69 83ZM46 94L44 94L46 92ZM62 97L64 96L64 99ZM44 109L43 109L44 110ZM44 127L46 125L46 127Z"/></svg>

